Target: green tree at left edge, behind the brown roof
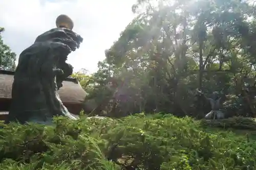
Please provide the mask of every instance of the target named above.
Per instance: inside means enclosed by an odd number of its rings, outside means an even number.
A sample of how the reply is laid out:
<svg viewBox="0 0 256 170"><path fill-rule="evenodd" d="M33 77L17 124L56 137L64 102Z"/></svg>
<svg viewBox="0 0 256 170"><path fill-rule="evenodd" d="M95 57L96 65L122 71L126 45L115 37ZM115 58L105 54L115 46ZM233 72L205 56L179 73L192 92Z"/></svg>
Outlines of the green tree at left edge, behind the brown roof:
<svg viewBox="0 0 256 170"><path fill-rule="evenodd" d="M16 54L4 43L1 36L4 31L5 29L0 27L0 69L14 70L16 67Z"/></svg>

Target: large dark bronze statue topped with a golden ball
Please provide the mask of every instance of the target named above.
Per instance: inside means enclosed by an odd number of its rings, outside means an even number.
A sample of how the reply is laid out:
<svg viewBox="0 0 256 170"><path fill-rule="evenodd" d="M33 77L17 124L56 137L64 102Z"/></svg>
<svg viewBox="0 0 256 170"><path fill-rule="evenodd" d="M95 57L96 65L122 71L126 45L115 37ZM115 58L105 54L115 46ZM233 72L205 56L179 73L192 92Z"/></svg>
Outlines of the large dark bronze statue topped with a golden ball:
<svg viewBox="0 0 256 170"><path fill-rule="evenodd" d="M60 15L56 26L39 35L34 44L20 54L6 123L48 124L54 115L78 118L62 104L57 90L72 74L73 67L66 60L83 39L72 31L73 21L67 15Z"/></svg>

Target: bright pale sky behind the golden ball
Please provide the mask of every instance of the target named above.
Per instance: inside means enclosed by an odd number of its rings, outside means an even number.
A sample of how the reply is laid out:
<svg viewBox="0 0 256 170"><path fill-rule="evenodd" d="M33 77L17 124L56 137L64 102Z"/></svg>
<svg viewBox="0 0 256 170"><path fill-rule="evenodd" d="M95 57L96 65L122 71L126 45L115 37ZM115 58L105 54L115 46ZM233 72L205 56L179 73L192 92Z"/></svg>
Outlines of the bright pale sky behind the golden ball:
<svg viewBox="0 0 256 170"><path fill-rule="evenodd" d="M5 28L4 43L19 54L35 38L55 28L58 15L74 21L76 33L83 37L80 48L68 57L74 71L97 71L104 51L111 47L132 21L136 0L0 0L0 27Z"/></svg>

